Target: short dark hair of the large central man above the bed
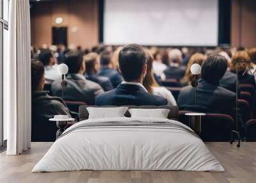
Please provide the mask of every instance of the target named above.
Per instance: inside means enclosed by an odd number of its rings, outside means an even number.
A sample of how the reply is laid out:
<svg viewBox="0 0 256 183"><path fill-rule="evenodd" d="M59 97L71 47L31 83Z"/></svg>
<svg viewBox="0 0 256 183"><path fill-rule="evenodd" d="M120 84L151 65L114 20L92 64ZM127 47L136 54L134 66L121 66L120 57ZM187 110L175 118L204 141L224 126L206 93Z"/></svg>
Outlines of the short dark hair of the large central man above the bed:
<svg viewBox="0 0 256 183"><path fill-rule="evenodd" d="M125 81L139 79L147 63L146 53L141 45L125 45L118 54L118 63Z"/></svg>

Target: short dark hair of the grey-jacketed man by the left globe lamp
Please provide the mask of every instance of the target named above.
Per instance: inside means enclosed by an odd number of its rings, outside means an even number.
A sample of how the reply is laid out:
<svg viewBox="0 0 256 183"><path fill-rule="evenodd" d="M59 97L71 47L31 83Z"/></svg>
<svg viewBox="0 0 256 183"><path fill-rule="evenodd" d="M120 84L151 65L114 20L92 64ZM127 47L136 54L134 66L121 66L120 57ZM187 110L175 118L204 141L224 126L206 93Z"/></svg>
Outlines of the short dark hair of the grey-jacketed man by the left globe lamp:
<svg viewBox="0 0 256 183"><path fill-rule="evenodd" d="M68 66L69 74L77 74L83 64L83 56L76 51L69 51L63 56L63 62Z"/></svg>

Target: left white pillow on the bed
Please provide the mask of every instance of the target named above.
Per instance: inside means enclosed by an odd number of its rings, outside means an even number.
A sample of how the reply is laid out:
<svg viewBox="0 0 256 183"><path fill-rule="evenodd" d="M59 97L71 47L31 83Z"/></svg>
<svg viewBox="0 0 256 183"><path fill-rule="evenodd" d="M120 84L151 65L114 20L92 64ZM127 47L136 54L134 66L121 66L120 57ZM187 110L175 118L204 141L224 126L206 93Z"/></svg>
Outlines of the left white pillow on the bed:
<svg viewBox="0 0 256 183"><path fill-rule="evenodd" d="M120 118L125 117L124 114L128 107L86 107L89 113L89 119L97 118Z"/></svg>

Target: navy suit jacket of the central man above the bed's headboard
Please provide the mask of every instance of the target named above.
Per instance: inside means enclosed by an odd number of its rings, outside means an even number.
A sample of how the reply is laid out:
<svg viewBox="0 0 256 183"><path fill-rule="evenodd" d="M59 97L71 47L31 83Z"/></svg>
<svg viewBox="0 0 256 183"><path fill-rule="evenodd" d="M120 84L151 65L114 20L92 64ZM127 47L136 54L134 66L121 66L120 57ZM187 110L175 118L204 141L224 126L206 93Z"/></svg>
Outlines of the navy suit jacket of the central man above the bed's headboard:
<svg viewBox="0 0 256 183"><path fill-rule="evenodd" d="M97 106L164 106L167 100L152 95L135 84L119 84L114 90L106 92L96 99Z"/></svg>

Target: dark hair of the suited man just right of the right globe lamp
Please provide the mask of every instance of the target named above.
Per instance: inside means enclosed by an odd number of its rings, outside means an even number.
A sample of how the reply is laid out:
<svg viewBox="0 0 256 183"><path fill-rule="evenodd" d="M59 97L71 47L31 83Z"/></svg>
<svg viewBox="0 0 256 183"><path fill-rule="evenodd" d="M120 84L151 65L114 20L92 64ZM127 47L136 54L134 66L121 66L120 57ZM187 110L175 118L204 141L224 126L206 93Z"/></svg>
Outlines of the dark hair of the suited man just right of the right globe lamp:
<svg viewBox="0 0 256 183"><path fill-rule="evenodd" d="M227 71L228 61L220 54L210 55L202 65L201 77L208 83L217 84Z"/></svg>

